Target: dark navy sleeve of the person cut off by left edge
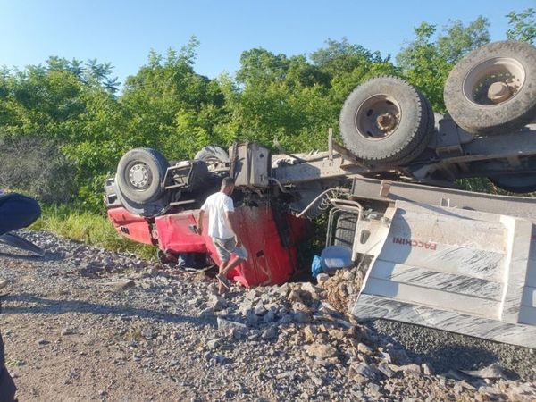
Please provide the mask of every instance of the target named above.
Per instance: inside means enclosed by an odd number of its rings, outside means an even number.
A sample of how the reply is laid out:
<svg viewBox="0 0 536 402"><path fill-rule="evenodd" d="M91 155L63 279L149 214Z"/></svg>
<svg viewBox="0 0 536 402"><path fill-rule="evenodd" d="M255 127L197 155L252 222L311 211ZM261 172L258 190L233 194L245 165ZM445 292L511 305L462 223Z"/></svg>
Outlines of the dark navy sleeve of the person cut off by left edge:
<svg viewBox="0 0 536 402"><path fill-rule="evenodd" d="M0 235L25 228L41 214L38 202L17 193L0 196Z"/></svg>

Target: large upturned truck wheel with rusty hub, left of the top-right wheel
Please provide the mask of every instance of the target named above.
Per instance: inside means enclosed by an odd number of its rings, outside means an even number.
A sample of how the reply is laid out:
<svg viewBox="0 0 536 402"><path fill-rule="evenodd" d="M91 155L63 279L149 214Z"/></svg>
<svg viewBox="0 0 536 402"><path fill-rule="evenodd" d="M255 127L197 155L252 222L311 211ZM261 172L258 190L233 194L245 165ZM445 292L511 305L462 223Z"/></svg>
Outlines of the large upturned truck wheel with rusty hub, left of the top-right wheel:
<svg viewBox="0 0 536 402"><path fill-rule="evenodd" d="M424 96L405 81L380 77L348 96L339 129L346 147L364 162L401 165L430 142L433 113Z"/></svg>

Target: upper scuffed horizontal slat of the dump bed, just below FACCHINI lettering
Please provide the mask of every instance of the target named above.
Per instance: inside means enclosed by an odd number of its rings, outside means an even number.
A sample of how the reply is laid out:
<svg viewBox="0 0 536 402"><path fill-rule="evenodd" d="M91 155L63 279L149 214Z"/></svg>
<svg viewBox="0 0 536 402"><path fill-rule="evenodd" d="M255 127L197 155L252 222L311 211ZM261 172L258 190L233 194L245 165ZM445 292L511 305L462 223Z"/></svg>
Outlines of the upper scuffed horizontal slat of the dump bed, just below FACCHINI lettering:
<svg viewBox="0 0 536 402"><path fill-rule="evenodd" d="M440 272L430 268L419 268L406 264L395 264L377 260L373 265L370 277L406 283L428 289L448 291L455 294L474 296L501 301L503 287L498 281L486 281L480 278L458 274L457 267L452 265L450 272Z"/></svg>

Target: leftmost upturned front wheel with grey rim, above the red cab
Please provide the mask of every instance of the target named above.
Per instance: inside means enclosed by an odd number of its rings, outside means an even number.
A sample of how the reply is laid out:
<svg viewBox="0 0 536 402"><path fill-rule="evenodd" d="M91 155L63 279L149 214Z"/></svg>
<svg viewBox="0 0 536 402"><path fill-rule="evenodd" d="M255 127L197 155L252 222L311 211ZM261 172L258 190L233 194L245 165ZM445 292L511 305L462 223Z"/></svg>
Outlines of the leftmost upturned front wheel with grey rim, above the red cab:
<svg viewBox="0 0 536 402"><path fill-rule="evenodd" d="M119 161L117 186L130 201L150 203L162 197L162 182L168 167L165 157L155 149L132 149Z"/></svg>

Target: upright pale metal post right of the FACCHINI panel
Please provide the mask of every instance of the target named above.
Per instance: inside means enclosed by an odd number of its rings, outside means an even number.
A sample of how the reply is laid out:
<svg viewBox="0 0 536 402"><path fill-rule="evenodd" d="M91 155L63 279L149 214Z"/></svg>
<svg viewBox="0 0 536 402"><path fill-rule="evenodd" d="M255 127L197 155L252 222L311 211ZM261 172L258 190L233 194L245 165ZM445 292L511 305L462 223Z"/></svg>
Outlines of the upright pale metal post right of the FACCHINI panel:
<svg viewBox="0 0 536 402"><path fill-rule="evenodd" d="M501 303L501 320L518 322L529 266L532 222L511 216L503 216L501 221L505 224L508 233L507 275L505 293Z"/></svg>

